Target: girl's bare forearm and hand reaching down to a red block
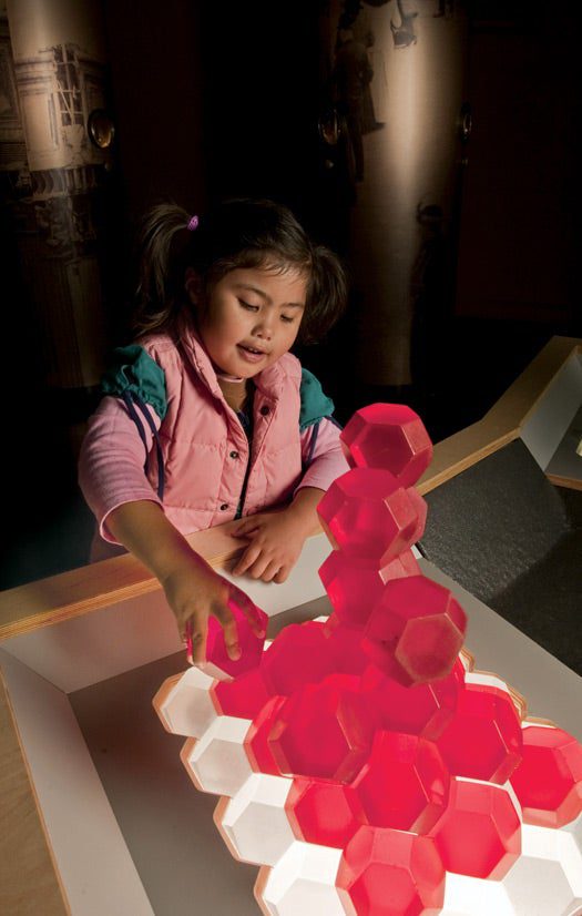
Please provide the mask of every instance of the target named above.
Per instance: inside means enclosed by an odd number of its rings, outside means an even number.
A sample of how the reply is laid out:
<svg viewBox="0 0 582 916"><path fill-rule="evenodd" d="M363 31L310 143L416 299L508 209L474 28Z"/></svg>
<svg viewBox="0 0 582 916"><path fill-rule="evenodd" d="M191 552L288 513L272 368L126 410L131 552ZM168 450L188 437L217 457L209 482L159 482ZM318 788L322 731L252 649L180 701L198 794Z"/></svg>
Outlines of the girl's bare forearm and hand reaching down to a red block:
<svg viewBox="0 0 582 916"><path fill-rule="evenodd" d="M159 505L150 500L125 502L110 512L108 525L115 539L160 581L178 631L185 634L188 630L192 638L194 663L205 659L210 614L218 620L224 630L229 658L241 657L236 621L228 608L231 600L241 607L253 632L257 637L264 635L251 599L218 576L190 547Z"/></svg>

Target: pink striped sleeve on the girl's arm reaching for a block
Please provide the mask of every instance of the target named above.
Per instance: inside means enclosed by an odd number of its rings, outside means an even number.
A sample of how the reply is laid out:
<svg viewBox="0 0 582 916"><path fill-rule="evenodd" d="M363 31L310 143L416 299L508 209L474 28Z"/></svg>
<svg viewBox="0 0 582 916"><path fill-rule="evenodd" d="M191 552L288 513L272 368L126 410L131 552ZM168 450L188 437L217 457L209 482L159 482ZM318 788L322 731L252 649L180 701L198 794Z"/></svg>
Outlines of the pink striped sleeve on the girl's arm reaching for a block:
<svg viewBox="0 0 582 916"><path fill-rule="evenodd" d="M160 417L146 405L156 429ZM120 398L104 397L92 417L81 446L79 486L96 518L99 533L118 543L108 529L110 512L124 502L147 499L162 505L144 471L146 455L153 445L153 432L144 423L145 449L137 428Z"/></svg>

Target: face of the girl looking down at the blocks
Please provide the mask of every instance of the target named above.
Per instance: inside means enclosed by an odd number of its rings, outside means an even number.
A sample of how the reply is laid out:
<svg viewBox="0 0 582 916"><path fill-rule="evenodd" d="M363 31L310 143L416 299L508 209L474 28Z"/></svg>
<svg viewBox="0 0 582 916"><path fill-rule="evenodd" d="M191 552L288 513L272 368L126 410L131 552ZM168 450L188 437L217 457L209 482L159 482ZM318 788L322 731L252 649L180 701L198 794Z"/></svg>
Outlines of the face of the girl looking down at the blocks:
<svg viewBox="0 0 582 916"><path fill-rule="evenodd" d="M236 268L201 293L191 276L186 287L215 368L252 378L287 353L302 323L306 286L298 272Z"/></svg>

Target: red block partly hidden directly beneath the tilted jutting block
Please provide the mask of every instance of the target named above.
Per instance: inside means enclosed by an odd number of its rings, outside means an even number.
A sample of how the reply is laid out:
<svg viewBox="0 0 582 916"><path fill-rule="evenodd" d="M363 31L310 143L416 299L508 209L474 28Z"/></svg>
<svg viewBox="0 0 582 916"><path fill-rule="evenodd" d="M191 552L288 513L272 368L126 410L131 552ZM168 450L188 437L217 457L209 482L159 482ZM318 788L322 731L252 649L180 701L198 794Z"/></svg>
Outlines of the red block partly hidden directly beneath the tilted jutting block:
<svg viewBox="0 0 582 916"><path fill-rule="evenodd" d="M360 691L378 710L380 727L407 732L435 741L451 721L459 691L462 688L462 665L431 684L404 686L388 678L375 664L368 665L360 679Z"/></svg>

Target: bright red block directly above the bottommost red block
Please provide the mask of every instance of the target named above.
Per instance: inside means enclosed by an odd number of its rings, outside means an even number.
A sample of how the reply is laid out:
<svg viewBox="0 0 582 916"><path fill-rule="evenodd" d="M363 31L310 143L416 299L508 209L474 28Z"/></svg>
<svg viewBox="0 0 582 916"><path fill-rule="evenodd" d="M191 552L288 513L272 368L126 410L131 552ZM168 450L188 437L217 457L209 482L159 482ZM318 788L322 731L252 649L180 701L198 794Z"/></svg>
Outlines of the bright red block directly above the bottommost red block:
<svg viewBox="0 0 582 916"><path fill-rule="evenodd" d="M378 732L354 781L370 824L428 833L442 816L450 777L437 746L401 732Z"/></svg>

